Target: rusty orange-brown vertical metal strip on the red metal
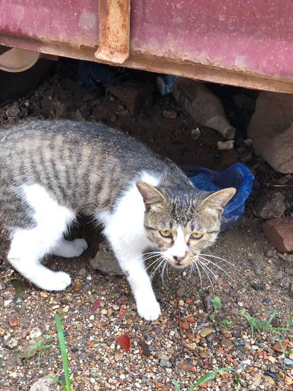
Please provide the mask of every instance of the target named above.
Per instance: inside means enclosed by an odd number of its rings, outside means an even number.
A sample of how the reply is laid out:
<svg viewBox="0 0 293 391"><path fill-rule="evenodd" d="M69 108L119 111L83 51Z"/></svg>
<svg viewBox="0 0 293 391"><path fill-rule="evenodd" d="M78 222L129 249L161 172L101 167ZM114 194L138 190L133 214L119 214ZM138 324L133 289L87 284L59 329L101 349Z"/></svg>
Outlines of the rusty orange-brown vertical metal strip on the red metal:
<svg viewBox="0 0 293 391"><path fill-rule="evenodd" d="M95 57L122 64L129 57L129 29L130 0L100 0L100 45Z"/></svg>

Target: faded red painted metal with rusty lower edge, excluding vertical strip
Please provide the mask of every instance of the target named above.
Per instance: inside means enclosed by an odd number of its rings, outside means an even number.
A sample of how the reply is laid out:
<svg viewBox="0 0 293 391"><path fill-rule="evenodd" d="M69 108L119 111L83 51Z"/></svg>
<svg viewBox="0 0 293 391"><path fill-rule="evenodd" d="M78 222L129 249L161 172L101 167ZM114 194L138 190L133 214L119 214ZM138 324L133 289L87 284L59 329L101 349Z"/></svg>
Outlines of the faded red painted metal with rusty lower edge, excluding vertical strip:
<svg viewBox="0 0 293 391"><path fill-rule="evenodd" d="M92 61L98 0L0 0L0 44ZM131 0L125 66L293 92L292 0Z"/></svg>

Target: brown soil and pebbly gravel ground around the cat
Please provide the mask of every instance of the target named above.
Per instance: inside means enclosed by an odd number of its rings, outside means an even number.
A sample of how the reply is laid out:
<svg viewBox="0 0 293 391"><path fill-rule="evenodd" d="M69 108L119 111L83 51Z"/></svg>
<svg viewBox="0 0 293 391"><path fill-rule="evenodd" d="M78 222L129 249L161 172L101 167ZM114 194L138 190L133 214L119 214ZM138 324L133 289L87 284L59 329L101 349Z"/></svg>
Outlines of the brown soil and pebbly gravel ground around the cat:
<svg viewBox="0 0 293 391"><path fill-rule="evenodd" d="M36 387L39 379L48 379L45 374L64 379L58 347L41 352L39 367L38 353L28 360L22 359L28 352L33 328L40 330L34 330L34 333L41 332L43 336L56 333L54 314L58 313L65 332L74 390L167 391L175 389L173 380L184 390L204 374L220 367L236 369L240 376L239 385L236 385L232 372L223 371L201 387L227 391L240 387L292 390L292 333L280 332L287 352L284 367L282 353L272 349L276 342L274 333L256 332L252 339L248 322L237 314L241 311L258 319L268 319L276 311L274 326L292 324L293 255L273 249L261 229L261 219L251 211L252 205L268 191L283 194L284 215L288 218L292 218L293 206L291 176L273 171L255 156L252 147L243 143L247 138L248 118L253 112L251 102L254 103L257 93L214 86L228 118L241 129L236 135L235 149L219 151L217 141L223 141L223 138L210 129L202 129L201 137L192 140L191 130L196 124L171 96L159 95L155 75L134 72L131 77L150 86L154 98L151 107L137 115L131 115L124 103L111 94L97 97L81 92L76 83L59 69L30 96L0 109L0 126L4 128L32 116L103 121L178 164L198 164L222 170L235 161L245 163L256 177L247 211L219 236L217 244L209 250L210 254L233 263L234 267L213 258L230 278L218 267L212 267L218 278L218 281L212 280L214 293L204 273L202 289L195 273L189 277L188 272L169 270L165 285L160 272L156 273L153 285L162 315L157 321L146 322L135 311L124 277L106 276L90 267L89 260L96 254L103 238L84 218L71 233L73 238L84 237L88 241L89 248L84 254L76 259L48 257L45 260L51 269L70 273L72 285L63 292L41 291L11 269L6 260L9 238L2 230L0 389L28 390L33 383L32 389L61 389L54 381L47 388L44 385ZM209 319L212 313L210 300L214 294L221 298L216 319L229 320L230 326L217 325ZM180 300L183 350L180 347L177 300ZM129 351L115 342L115 338L123 334L131 340ZM49 341L55 344L57 338Z"/></svg>

